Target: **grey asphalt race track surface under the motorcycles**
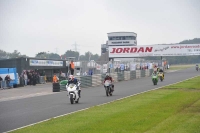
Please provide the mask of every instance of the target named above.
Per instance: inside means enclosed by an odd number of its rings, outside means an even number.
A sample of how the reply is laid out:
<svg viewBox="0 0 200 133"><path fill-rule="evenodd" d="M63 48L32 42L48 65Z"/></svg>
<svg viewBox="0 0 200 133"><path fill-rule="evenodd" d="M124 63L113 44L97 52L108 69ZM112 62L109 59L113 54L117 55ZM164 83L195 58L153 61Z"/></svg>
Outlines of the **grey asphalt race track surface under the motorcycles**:
<svg viewBox="0 0 200 133"><path fill-rule="evenodd" d="M154 86L151 77L115 83L113 96L107 97L103 86L82 88L78 104L70 104L66 91L52 92L52 85L38 85L0 90L0 132L7 132L52 117L107 103L116 99L153 90L194 76L194 68L169 72Z"/></svg>

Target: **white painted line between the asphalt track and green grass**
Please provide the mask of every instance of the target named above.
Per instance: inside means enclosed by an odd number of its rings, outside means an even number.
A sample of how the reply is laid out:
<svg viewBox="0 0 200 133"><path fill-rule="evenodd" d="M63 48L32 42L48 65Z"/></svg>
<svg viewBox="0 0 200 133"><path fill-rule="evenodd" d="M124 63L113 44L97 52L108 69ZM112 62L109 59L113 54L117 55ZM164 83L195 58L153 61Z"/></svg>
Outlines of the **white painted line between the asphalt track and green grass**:
<svg viewBox="0 0 200 133"><path fill-rule="evenodd" d="M136 94L133 94L133 95L130 95L130 96L126 96L126 97L123 97L123 98L119 98L119 99L112 100L110 102L99 104L99 105L95 105L95 106L102 106L102 105L105 105L105 104L109 104L109 103L112 103L114 101L122 100L122 99L125 99L125 98L129 98L129 97L132 97L132 96L136 96L136 95L145 93L145 92L149 92L149 91L157 90L157 89L160 89L160 88L163 88L163 87L166 87L166 86L170 86L170 85L174 85L174 84L177 84L177 83L181 83L183 81L186 81L186 80L189 80L189 79L192 79L192 78L195 78L195 77L198 77L198 76L194 76L194 77L191 77L191 78L188 78L188 79L176 82L176 83L172 83L172 84L168 84L168 85L165 85L165 86L161 86L161 87L158 87L158 88L155 88L155 89L151 89L151 90L148 90L148 91L143 91L143 92L140 92L140 93L136 93ZM70 114L74 114L74 113L77 113L77 112L80 112L80 111L88 110L88 109L90 109L92 107L94 107L94 106L91 106L91 107L85 108L85 109L81 109L81 110L77 110L77 111L73 111L73 112L70 112L70 113L67 113L67 114L59 115L59 116L53 117L53 119L59 118L59 117L62 117L62 116L66 116L66 115L70 115ZM42 122L45 122L45 121L48 121L48 120L51 120L51 119L52 118L49 118L49 119L46 119L46 120L43 120L43 121L39 121L39 122L36 122L36 123L33 123L33 124L29 124L29 125L26 125L26 126L23 126L23 127L20 127L20 128L16 128L16 129L7 131L7 132L4 132L4 133L8 133L8 132L12 132L12 131L19 130L19 129L22 129L22 128L30 127L30 126L33 126L33 125L36 125L36 124L39 124L39 123L42 123Z"/></svg>

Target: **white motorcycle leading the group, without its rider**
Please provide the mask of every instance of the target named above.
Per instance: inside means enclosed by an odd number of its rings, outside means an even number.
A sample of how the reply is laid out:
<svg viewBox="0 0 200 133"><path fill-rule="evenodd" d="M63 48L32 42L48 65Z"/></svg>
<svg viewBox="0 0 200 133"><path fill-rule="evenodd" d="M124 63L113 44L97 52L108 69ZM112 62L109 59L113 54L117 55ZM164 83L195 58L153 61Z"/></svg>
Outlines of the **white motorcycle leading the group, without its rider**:
<svg viewBox="0 0 200 133"><path fill-rule="evenodd" d="M80 82L78 84L69 84L68 86L66 85L67 88L67 93L70 99L71 104L78 103L79 102L79 95L78 95L78 89L77 87L80 87Z"/></svg>

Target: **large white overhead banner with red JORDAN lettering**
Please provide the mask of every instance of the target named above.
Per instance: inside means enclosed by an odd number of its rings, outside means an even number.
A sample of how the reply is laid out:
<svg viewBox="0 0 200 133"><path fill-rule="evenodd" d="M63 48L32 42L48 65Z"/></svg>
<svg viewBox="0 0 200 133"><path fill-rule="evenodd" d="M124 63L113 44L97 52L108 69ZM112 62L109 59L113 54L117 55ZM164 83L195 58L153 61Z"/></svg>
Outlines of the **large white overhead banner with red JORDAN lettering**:
<svg viewBox="0 0 200 133"><path fill-rule="evenodd" d="M109 46L109 58L200 55L200 44Z"/></svg>

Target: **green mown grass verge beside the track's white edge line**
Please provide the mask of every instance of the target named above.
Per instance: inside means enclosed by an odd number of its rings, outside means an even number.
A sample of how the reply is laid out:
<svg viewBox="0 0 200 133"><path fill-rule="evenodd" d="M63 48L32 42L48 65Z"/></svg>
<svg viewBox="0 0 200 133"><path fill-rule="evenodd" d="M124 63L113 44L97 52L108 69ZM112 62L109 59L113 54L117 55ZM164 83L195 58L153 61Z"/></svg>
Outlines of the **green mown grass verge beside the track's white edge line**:
<svg viewBox="0 0 200 133"><path fill-rule="evenodd" d="M199 133L199 81L196 77L14 132Z"/></svg>

